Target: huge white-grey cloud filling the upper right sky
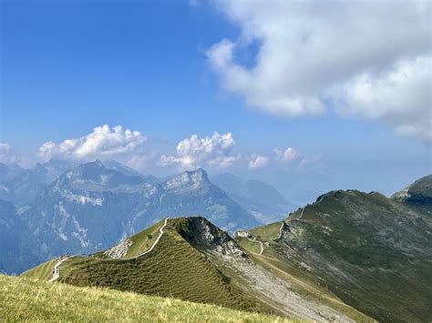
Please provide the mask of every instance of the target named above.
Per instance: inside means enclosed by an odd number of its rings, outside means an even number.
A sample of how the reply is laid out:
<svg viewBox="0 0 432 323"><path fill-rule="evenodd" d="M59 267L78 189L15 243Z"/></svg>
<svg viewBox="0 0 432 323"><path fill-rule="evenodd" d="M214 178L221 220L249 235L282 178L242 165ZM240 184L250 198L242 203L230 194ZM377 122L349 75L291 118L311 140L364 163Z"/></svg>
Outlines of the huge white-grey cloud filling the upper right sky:
<svg viewBox="0 0 432 323"><path fill-rule="evenodd" d="M241 34L212 45L209 62L222 87L248 106L316 116L334 100L343 115L432 139L429 1L211 3ZM252 64L242 62L242 51L255 46Z"/></svg>

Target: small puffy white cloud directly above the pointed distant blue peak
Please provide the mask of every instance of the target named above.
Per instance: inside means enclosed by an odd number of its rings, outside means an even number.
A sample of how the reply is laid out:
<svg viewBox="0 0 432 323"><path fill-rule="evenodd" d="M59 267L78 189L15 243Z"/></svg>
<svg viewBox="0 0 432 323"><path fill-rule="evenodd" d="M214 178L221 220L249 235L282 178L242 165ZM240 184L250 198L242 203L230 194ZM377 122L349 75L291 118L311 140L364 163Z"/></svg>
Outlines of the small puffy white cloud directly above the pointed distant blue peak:
<svg viewBox="0 0 432 323"><path fill-rule="evenodd" d="M240 158L232 155L231 149L235 140L231 132L220 135L214 132L212 136L200 138L192 135L180 141L174 156L160 156L161 166L175 165L184 169L196 167L226 168Z"/></svg>

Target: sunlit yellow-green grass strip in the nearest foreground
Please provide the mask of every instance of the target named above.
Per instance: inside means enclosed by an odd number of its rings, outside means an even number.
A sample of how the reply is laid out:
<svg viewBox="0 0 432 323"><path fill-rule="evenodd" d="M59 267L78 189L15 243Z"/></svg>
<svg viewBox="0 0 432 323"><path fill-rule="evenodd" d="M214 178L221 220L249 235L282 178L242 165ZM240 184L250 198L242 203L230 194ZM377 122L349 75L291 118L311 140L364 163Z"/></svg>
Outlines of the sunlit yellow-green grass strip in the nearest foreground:
<svg viewBox="0 0 432 323"><path fill-rule="evenodd" d="M113 289L0 275L0 321L285 322L286 319Z"/></svg>

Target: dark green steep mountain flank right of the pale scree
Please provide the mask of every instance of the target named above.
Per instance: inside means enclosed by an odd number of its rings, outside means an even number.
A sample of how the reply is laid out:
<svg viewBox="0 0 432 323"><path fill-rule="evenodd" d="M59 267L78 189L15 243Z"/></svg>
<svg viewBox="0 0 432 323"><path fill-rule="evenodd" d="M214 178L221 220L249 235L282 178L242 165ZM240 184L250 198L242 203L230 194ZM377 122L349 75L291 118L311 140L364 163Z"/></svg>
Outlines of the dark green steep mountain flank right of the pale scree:
<svg viewBox="0 0 432 323"><path fill-rule="evenodd" d="M295 211L279 234L272 226L249 230L242 246L261 241L262 261L378 320L432 318L432 227L416 210L375 192L334 191Z"/></svg>

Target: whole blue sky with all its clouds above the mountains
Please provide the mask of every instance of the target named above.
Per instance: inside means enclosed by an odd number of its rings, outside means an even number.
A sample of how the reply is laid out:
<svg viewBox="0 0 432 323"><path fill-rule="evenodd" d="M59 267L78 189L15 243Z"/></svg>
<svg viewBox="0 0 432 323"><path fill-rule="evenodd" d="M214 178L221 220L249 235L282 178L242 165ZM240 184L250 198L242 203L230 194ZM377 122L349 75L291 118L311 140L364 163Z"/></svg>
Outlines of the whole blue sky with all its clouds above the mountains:
<svg viewBox="0 0 432 323"><path fill-rule="evenodd" d="M432 173L431 3L3 0L0 162L203 167L294 203Z"/></svg>

